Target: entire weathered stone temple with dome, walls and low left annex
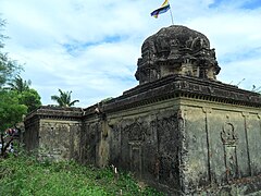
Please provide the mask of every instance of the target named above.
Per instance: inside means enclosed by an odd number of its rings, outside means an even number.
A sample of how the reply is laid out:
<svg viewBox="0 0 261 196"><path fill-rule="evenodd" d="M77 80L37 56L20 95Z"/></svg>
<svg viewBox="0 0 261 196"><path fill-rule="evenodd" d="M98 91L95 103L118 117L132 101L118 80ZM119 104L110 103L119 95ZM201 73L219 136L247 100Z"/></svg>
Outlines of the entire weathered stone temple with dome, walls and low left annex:
<svg viewBox="0 0 261 196"><path fill-rule="evenodd" d="M220 70L203 34L162 28L142 44L138 86L85 109L39 108L26 149L114 164L169 195L259 195L261 98L219 82Z"/></svg>

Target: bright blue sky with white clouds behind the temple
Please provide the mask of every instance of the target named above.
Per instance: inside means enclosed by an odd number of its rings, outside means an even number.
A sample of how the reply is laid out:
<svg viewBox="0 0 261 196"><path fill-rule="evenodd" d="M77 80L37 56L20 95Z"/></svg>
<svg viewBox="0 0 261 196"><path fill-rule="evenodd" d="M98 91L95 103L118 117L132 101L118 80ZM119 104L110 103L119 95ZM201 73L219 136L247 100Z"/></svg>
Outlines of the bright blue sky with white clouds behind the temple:
<svg viewBox="0 0 261 196"><path fill-rule="evenodd" d="M4 51L24 66L42 105L58 89L76 107L121 96L138 85L144 40L172 25L170 11L151 17L163 0L0 0L7 20ZM170 0L175 25L204 34L215 48L217 79L261 86L261 0Z"/></svg>

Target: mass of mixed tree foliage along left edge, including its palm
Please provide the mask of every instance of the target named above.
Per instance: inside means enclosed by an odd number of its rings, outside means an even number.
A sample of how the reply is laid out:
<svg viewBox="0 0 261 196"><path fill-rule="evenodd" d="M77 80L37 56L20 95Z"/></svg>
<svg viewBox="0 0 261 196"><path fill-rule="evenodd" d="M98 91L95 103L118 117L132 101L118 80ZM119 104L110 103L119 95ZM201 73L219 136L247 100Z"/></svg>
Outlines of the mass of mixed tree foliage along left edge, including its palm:
<svg viewBox="0 0 261 196"><path fill-rule="evenodd" d="M38 93L29 88L30 81L23 81L17 75L22 66L2 51L7 38L1 34L4 24L0 19L0 132L21 122L27 109L30 112L41 105ZM7 88L7 84L10 88Z"/></svg>

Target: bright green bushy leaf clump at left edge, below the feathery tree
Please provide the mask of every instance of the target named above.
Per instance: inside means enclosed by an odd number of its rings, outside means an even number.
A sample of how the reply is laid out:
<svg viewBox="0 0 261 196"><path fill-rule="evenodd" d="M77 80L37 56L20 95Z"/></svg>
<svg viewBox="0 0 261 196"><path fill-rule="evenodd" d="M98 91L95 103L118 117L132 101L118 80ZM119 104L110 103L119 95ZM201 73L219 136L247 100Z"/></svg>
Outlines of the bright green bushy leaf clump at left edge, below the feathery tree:
<svg viewBox="0 0 261 196"><path fill-rule="evenodd" d="M21 122L26 112L15 91L0 90L0 132Z"/></svg>

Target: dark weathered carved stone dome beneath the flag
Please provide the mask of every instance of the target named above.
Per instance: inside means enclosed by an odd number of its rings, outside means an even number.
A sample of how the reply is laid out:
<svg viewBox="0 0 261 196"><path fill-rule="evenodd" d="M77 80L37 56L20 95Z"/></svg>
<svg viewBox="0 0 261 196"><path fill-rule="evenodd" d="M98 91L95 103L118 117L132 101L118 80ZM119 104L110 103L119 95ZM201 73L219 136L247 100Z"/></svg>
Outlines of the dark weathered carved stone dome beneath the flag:
<svg viewBox="0 0 261 196"><path fill-rule="evenodd" d="M139 84L174 74L216 79L221 70L207 36L181 25L161 28L148 37L137 65Z"/></svg>

